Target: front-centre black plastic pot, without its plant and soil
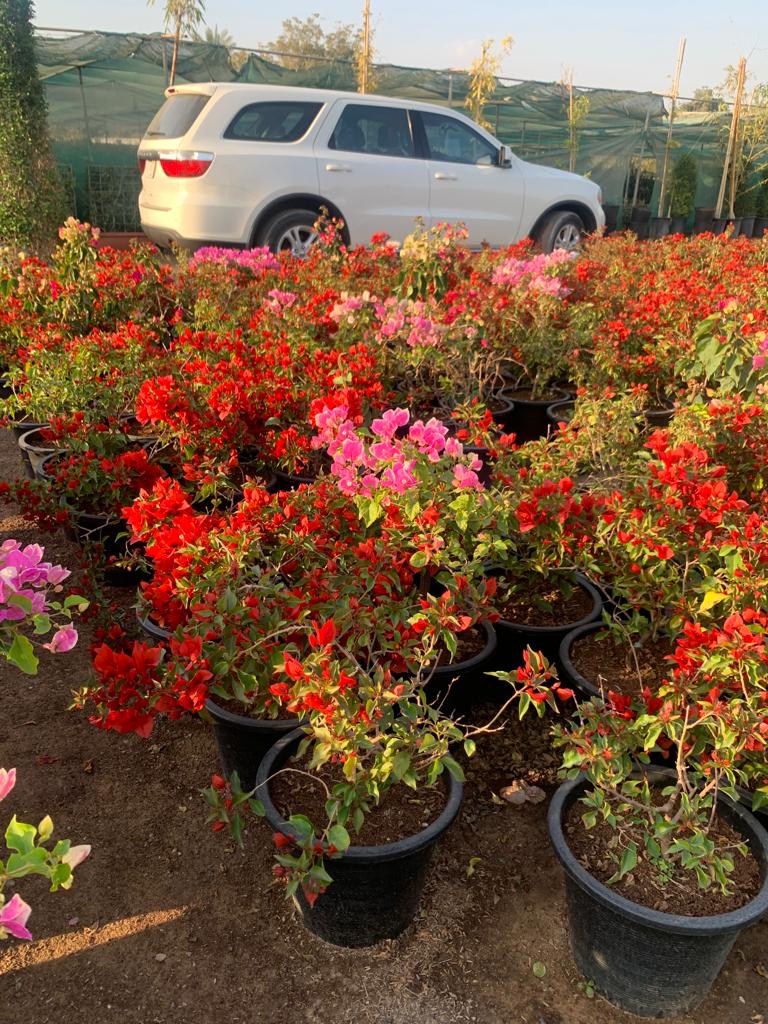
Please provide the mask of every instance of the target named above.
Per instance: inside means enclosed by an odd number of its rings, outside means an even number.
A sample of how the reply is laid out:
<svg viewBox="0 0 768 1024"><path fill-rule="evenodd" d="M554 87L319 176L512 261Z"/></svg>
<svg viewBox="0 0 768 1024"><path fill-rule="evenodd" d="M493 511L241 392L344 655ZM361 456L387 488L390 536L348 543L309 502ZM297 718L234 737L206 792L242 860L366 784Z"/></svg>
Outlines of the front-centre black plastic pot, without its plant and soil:
<svg viewBox="0 0 768 1024"><path fill-rule="evenodd" d="M292 835L291 826L269 797L268 779L294 753L303 735L297 729L279 740L261 762L257 777L257 796L264 804L267 822L287 836ZM342 857L326 860L333 884L311 907L299 894L308 931L334 945L358 948L393 939L408 928L419 907L435 844L461 808L462 783L444 774L445 806L422 831L396 843L350 846Z"/></svg>

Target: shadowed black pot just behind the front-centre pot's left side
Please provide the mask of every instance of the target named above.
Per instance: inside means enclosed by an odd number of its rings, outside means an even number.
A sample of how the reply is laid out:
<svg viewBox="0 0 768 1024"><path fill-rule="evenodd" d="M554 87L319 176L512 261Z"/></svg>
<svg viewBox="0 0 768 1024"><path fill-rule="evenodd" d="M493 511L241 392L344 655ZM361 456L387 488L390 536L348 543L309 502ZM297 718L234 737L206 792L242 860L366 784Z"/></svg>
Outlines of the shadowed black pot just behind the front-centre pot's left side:
<svg viewBox="0 0 768 1024"><path fill-rule="evenodd" d="M297 732L299 725L297 718L237 715L221 708L211 697L206 700L206 711L213 720L213 734L222 771L226 778L237 771L244 790L252 790L256 785L256 773L267 751L288 733Z"/></svg>

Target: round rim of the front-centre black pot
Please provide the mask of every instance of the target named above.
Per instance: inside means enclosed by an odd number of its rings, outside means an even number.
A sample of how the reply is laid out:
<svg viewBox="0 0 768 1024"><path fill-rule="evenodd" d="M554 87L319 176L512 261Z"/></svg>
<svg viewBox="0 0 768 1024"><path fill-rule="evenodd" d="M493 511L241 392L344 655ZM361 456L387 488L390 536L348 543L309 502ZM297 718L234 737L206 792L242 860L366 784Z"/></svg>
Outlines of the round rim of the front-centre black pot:
<svg viewBox="0 0 768 1024"><path fill-rule="evenodd" d="M295 837L294 829L281 817L278 808L269 796L269 779L274 762L286 752L287 748L294 746L304 735L305 732L303 729L295 729L282 739L279 739L264 755L256 775L257 797L264 805L266 820L276 831L291 837ZM288 757L288 753L285 753L286 758ZM435 843L456 819L461 808L464 793L463 784L458 779L455 779L450 772L445 771L443 776L447 778L447 799L445 806L434 821L430 822L426 828L416 833L414 836L397 840L394 843L382 843L379 846L350 846L340 859L354 864L399 860L402 857L418 853L420 850ZM258 792L259 790L261 793Z"/></svg>

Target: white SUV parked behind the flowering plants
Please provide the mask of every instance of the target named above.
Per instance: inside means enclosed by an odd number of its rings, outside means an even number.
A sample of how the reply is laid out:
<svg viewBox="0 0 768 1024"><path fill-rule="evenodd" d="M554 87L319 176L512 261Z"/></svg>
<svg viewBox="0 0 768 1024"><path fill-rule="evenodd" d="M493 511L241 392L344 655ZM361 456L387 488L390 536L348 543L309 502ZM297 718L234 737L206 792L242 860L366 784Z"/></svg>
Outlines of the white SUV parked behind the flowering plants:
<svg viewBox="0 0 768 1024"><path fill-rule="evenodd" d="M326 209L346 241L417 217L464 223L469 245L530 236L571 249L605 223L598 186L527 164L457 111L409 99L274 85L166 90L138 151L144 232L161 246L306 253Z"/></svg>

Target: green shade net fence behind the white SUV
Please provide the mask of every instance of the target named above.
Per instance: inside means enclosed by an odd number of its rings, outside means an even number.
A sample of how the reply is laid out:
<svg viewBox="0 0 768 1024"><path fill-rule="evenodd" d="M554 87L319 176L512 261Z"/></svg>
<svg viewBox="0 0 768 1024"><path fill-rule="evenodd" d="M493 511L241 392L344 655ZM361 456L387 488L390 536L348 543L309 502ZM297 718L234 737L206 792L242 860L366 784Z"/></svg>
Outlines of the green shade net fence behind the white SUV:
<svg viewBox="0 0 768 1024"><path fill-rule="evenodd" d="M164 100L172 44L162 36L82 33L37 36L40 76L48 100L51 138L71 188L73 210L108 230L138 227L136 146ZM317 61L285 68L255 54L211 43L183 42L177 83L251 82L354 91L354 68ZM375 91L387 96L462 108L469 79L463 72L380 65ZM660 96L611 89L574 90L589 99L577 132L575 170L589 175L607 204L621 204L630 168L660 172L667 113ZM484 111L494 133L517 156L567 168L570 153L567 93L561 85L499 83ZM673 155L690 151L699 163L697 205L713 206L720 180L728 115L680 114ZM657 174L656 174L657 177ZM657 190L657 182L656 182Z"/></svg>

